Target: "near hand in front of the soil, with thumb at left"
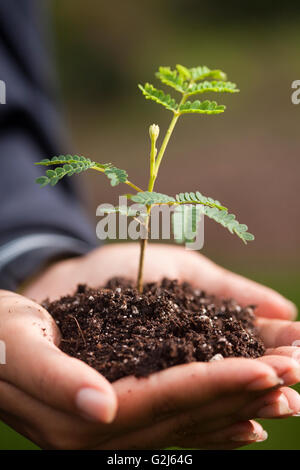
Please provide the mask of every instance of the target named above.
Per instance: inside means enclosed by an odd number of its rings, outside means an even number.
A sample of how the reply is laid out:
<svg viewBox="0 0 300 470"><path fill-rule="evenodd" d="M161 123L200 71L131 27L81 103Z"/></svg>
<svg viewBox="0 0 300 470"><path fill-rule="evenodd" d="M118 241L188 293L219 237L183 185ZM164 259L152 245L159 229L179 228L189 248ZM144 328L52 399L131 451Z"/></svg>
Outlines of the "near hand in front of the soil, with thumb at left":
<svg viewBox="0 0 300 470"><path fill-rule="evenodd" d="M110 385L58 349L41 306L7 291L0 336L0 417L45 449L235 448L266 437L252 418L300 410L294 390L276 389L299 380L288 357L192 363Z"/></svg>

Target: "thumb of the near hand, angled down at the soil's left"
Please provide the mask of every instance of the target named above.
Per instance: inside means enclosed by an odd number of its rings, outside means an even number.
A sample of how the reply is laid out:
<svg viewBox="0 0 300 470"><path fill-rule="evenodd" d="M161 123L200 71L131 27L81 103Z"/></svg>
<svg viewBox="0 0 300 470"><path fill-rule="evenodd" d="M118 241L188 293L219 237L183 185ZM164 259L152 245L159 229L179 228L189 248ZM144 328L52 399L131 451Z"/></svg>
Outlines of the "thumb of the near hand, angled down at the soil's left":
<svg viewBox="0 0 300 470"><path fill-rule="evenodd" d="M104 423L113 421L117 410L115 392L94 369L43 341L33 344L24 336L19 347L24 351L22 367L9 367L21 361L18 351L10 347L7 366L0 371L2 379L57 409Z"/></svg>

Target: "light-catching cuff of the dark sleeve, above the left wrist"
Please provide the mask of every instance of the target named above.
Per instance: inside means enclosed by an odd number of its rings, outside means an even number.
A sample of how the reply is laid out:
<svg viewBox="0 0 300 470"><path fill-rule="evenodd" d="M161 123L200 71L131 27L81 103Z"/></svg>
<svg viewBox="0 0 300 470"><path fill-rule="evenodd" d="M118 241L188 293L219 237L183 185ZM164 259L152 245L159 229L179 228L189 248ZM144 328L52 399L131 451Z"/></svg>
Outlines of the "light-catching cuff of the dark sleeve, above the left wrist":
<svg viewBox="0 0 300 470"><path fill-rule="evenodd" d="M24 235L0 247L0 288L16 290L52 258L80 256L93 246L56 233Z"/></svg>

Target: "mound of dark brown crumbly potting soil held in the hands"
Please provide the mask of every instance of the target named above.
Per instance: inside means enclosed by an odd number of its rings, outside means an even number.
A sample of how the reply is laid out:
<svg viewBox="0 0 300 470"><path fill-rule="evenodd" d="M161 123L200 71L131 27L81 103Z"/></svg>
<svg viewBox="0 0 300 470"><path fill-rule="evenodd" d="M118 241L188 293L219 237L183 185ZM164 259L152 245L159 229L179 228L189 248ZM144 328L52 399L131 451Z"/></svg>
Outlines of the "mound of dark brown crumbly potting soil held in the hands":
<svg viewBox="0 0 300 470"><path fill-rule="evenodd" d="M118 278L105 288L79 285L73 296L43 306L60 328L62 351L110 382L188 362L265 352L253 306L241 308L234 300L220 301L168 279L146 284L143 294Z"/></svg>

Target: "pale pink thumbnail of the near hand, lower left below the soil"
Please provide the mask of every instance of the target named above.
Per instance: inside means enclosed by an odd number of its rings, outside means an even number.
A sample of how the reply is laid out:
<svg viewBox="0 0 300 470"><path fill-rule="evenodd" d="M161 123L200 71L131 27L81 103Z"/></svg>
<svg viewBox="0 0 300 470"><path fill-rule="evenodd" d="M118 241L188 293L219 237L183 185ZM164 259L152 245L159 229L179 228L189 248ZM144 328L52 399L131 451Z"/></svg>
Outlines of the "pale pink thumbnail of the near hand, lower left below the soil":
<svg viewBox="0 0 300 470"><path fill-rule="evenodd" d="M115 417L113 398L94 388L79 390L75 403L81 414L92 421L111 423Z"/></svg>

